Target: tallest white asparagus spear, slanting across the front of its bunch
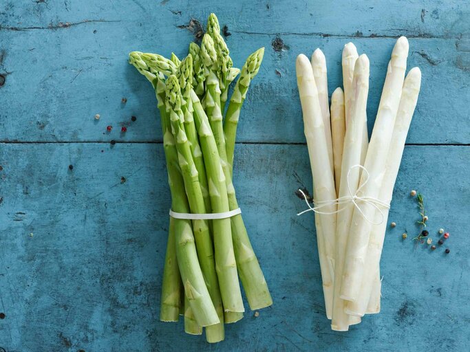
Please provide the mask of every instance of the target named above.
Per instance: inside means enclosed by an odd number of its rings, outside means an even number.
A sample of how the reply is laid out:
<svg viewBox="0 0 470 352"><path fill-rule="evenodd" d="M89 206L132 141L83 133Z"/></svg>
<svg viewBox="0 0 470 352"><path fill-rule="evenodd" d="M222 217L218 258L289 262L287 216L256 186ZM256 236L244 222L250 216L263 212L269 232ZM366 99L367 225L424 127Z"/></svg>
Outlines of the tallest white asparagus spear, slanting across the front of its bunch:
<svg viewBox="0 0 470 352"><path fill-rule="evenodd" d="M369 178L367 184L365 184L367 173L362 173L360 184L364 184L364 186L358 192L359 197L376 198L381 188L383 174L385 173L385 160L392 140L396 112L398 111L405 78L408 49L407 39L401 36L396 41L388 65L374 131L364 162ZM378 221L374 217L376 208L370 203L360 202L359 207L361 211L356 208L352 216L348 250L345 257L345 270L341 283L341 298L352 301L358 297L362 285L364 261L372 228L369 221ZM383 221L386 221L386 219L383 219Z"/></svg>

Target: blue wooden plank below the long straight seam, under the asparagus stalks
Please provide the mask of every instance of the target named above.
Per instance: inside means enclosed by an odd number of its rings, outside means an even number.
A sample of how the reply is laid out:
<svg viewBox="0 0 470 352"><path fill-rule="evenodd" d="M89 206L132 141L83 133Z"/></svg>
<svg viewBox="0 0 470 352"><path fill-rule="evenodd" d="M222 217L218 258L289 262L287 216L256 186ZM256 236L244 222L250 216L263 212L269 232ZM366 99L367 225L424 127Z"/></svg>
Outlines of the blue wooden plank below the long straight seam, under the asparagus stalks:
<svg viewBox="0 0 470 352"><path fill-rule="evenodd" d="M407 146L382 262L382 312L349 333L323 312L306 146L237 146L235 186L275 304L229 325L222 351L464 351L468 146ZM103 151L103 152L102 152ZM161 144L0 144L0 347L6 351L201 351L158 322L169 207ZM72 164L73 170L68 166ZM126 181L121 183L121 177ZM444 248L415 249L415 188ZM401 240L408 230L409 239Z"/></svg>

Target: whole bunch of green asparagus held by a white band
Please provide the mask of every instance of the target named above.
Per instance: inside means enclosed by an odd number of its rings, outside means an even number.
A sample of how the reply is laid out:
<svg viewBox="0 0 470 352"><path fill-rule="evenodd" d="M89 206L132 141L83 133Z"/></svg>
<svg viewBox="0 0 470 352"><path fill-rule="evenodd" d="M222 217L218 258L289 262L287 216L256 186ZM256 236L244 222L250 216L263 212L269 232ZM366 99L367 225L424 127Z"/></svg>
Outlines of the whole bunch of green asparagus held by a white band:
<svg viewBox="0 0 470 352"><path fill-rule="evenodd" d="M175 54L131 52L156 91L173 212L222 213L239 206L232 182L239 114L264 48L233 67L219 21L211 14L202 45ZM231 83L239 76L224 118ZM224 324L243 318L242 281L250 309L273 304L241 214L224 219L170 217L160 320L184 315L186 333L224 340Z"/></svg>

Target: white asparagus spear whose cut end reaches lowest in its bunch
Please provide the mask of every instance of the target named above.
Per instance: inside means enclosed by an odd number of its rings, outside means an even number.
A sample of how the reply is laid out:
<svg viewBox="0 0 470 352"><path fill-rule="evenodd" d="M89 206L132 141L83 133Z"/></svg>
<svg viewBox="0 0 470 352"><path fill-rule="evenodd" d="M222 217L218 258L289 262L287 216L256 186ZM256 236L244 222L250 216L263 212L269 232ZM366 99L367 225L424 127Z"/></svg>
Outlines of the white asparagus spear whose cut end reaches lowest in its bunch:
<svg viewBox="0 0 470 352"><path fill-rule="evenodd" d="M359 186L361 168L353 167L361 161L361 140L365 120L365 109L367 107L367 95L369 92L369 59L365 54L359 56L354 65L354 78L352 81L352 100L350 122L343 146L343 162L341 165L341 181L339 186L339 198L347 197L350 192L354 195ZM343 277L343 265L348 243L348 229L350 228L354 203L339 204L337 215L336 244L337 252L334 267L334 294L333 294L333 318L332 330L348 331L350 316L345 314L346 302L339 296L341 289L341 278Z"/></svg>

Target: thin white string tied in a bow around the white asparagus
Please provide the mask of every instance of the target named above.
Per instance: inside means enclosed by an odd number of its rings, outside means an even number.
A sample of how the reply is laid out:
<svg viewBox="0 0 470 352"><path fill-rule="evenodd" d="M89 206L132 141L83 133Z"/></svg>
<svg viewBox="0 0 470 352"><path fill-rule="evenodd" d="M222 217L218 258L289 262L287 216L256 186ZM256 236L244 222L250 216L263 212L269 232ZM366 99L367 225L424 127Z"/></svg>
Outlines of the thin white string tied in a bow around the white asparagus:
<svg viewBox="0 0 470 352"><path fill-rule="evenodd" d="M361 168L363 170L363 172L365 173L365 179L364 179L363 183L359 185L359 187L357 188L354 195L352 194L352 190L351 190L351 187L350 187L350 173L351 173L351 170L353 168ZM383 223L383 221L385 220L385 214L383 214L383 211L381 210L380 207L389 209L390 204L385 203L385 201L381 201L378 198L359 196L358 195L361 188L363 188L365 186L365 184L367 184L367 182L369 181L369 172L366 170L366 168L362 165L353 165L353 166L351 166L350 169L348 170L348 177L346 177L346 179L347 179L347 182L348 182L347 186L348 186L349 195L345 195L343 197L339 197L337 199L331 199L331 200L328 200L328 201L315 201L314 200L313 201L314 206L310 206L310 203L308 203L307 196L305 195L305 193L301 189L299 189L299 192L301 192L301 194L303 195L303 199L305 199L305 201L306 201L308 209L303 210L303 212L299 212L297 215L301 215L301 214L304 214L306 212L316 212L317 214L323 214L323 215L337 214L338 212L341 212L345 209L345 207L340 209L339 205L344 204L344 203L352 202L354 204L354 206L356 207L356 209L361 213L361 215L363 216L363 218L367 222L372 223L372 225L380 225L381 223ZM360 201L363 201L364 203L370 204L371 206L376 208L376 210L378 210L378 212L380 212L380 214L381 214L381 217L382 217L381 221L378 222L378 223L374 223L373 221L370 221L370 219L367 219L367 217L365 216L365 214L363 213L361 207L358 204ZM324 208L325 206L338 206L338 210L335 210L334 212L322 212L321 208Z"/></svg>

